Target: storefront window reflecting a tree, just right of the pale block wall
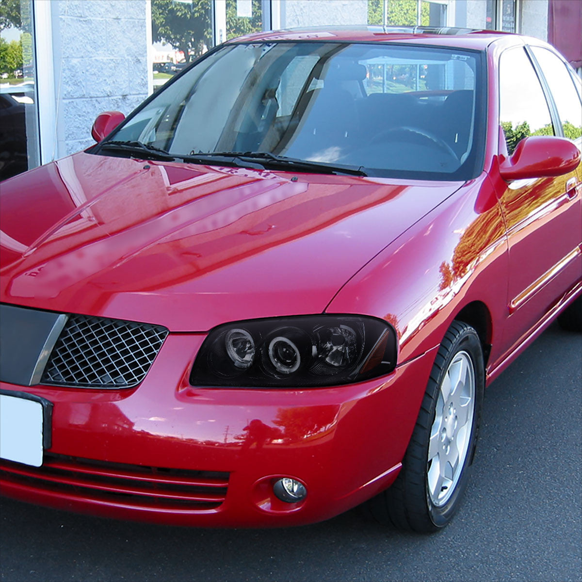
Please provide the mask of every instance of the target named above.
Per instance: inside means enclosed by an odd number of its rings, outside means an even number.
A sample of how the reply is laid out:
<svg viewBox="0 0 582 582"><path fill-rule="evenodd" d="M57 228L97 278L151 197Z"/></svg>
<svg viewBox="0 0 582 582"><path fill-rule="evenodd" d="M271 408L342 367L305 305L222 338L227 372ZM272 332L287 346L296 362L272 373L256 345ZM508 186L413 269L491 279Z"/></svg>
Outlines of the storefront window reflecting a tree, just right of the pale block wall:
<svg viewBox="0 0 582 582"><path fill-rule="evenodd" d="M214 47L211 0L151 0L154 90Z"/></svg>

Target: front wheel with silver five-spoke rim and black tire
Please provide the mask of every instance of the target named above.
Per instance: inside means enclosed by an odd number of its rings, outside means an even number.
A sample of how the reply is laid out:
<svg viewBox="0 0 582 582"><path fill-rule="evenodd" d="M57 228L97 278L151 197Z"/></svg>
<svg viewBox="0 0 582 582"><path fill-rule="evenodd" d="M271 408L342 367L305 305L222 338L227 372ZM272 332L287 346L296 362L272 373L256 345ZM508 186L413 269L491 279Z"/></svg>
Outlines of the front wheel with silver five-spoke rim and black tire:
<svg viewBox="0 0 582 582"><path fill-rule="evenodd" d="M469 480L484 385L477 332L454 321L435 358L398 478L368 502L375 519L422 533L449 523Z"/></svg>

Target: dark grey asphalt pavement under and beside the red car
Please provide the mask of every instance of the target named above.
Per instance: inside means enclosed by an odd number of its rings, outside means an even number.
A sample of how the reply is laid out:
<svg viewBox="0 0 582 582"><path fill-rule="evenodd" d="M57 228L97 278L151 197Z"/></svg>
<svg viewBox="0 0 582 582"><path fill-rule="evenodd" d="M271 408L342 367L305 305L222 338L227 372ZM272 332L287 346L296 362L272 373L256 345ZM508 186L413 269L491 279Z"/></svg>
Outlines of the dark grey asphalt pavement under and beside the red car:
<svg viewBox="0 0 582 582"><path fill-rule="evenodd" d="M357 510L201 530L3 500L0 580L582 580L582 336L553 325L485 393L460 513L414 535Z"/></svg>

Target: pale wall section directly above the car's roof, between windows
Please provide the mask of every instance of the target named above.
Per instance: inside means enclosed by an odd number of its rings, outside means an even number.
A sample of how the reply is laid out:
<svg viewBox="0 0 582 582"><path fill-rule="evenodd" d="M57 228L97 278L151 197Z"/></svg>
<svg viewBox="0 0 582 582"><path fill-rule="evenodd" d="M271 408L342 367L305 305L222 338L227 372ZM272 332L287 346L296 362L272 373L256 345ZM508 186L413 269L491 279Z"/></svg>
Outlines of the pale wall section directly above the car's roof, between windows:
<svg viewBox="0 0 582 582"><path fill-rule="evenodd" d="M367 0L282 0L281 28L367 24Z"/></svg>

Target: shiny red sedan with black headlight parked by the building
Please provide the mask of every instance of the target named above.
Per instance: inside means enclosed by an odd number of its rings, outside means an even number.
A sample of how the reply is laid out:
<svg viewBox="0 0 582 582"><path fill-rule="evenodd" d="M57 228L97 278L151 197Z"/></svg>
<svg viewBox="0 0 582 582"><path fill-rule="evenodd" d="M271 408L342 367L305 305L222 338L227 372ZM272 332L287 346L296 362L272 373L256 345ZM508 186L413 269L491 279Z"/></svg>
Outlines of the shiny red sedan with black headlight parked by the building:
<svg viewBox="0 0 582 582"><path fill-rule="evenodd" d="M229 41L100 115L0 187L3 494L445 526L485 386L582 327L581 119L545 42L375 27Z"/></svg>

